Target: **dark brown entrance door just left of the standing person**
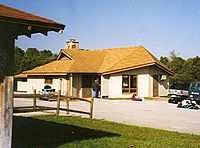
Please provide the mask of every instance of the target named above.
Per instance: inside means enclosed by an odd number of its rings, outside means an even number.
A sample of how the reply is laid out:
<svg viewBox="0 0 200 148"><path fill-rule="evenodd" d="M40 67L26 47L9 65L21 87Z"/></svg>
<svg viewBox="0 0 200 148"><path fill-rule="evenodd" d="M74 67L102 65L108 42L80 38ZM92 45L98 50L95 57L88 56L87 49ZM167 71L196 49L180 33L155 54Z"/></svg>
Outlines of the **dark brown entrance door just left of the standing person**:
<svg viewBox="0 0 200 148"><path fill-rule="evenodd" d="M92 75L82 75L82 97L89 98L92 96Z"/></svg>

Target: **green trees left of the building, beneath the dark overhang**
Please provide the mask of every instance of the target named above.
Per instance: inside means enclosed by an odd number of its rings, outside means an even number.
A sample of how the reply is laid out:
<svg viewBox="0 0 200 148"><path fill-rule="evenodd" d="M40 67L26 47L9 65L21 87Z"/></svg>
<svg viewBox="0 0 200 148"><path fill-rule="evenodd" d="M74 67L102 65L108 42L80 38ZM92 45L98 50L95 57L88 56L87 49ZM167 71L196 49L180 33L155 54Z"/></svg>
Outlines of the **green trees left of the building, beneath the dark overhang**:
<svg viewBox="0 0 200 148"><path fill-rule="evenodd" d="M36 48L28 48L26 51L15 47L15 74L25 70L31 70L37 66L56 60L57 54L50 50L39 51Z"/></svg>

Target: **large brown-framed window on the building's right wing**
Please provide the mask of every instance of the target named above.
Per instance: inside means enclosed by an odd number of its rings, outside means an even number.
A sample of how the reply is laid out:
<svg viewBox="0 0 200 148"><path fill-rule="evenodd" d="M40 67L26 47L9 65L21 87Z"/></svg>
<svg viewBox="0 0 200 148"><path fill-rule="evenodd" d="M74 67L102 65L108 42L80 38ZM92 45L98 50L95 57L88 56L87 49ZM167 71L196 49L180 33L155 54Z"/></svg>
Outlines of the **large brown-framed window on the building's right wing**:
<svg viewBox="0 0 200 148"><path fill-rule="evenodd" d="M122 76L122 93L137 95L137 75Z"/></svg>

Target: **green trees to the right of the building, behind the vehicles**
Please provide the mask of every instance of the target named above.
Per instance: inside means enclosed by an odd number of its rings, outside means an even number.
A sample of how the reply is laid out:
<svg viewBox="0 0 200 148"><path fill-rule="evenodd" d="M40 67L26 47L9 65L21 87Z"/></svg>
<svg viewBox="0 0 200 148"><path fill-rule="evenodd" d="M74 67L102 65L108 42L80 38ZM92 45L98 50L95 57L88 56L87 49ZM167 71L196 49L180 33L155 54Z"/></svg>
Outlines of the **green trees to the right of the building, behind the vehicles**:
<svg viewBox="0 0 200 148"><path fill-rule="evenodd" d="M198 56L183 59L173 50L169 57L161 56L160 61L174 72L174 75L170 77L170 85L200 81L200 58Z"/></svg>

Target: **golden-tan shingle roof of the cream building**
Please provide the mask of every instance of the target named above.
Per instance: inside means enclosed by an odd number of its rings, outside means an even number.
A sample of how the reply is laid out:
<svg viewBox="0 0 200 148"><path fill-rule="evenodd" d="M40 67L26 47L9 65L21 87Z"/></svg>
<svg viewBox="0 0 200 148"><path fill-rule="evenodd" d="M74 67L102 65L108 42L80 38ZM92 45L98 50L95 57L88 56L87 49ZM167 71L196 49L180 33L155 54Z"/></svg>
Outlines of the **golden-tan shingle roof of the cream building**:
<svg viewBox="0 0 200 148"><path fill-rule="evenodd" d="M63 49L61 53L70 56L72 59L58 58L58 61L30 70L28 74L56 72L111 74L150 65L156 65L170 75L173 74L143 46L103 50Z"/></svg>

